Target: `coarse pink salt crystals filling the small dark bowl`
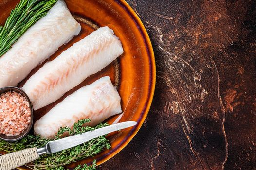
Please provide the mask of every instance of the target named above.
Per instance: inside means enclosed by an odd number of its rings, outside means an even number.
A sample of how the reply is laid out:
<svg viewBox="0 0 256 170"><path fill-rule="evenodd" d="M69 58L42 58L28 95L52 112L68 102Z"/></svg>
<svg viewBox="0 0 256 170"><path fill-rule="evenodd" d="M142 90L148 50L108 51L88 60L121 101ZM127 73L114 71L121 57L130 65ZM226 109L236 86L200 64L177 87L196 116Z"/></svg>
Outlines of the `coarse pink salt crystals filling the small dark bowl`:
<svg viewBox="0 0 256 170"><path fill-rule="evenodd" d="M17 136L26 130L30 123L29 102L15 91L0 95L0 134Z"/></svg>

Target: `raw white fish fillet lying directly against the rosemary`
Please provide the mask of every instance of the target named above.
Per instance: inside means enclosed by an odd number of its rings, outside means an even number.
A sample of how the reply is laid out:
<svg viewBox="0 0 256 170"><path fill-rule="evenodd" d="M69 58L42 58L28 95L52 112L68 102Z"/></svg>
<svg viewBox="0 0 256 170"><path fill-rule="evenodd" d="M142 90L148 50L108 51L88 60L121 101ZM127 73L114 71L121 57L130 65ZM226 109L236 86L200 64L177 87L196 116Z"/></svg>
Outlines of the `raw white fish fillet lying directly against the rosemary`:
<svg viewBox="0 0 256 170"><path fill-rule="evenodd" d="M62 0L58 0L0 57L0 88L16 86L60 46L79 34L81 26Z"/></svg>

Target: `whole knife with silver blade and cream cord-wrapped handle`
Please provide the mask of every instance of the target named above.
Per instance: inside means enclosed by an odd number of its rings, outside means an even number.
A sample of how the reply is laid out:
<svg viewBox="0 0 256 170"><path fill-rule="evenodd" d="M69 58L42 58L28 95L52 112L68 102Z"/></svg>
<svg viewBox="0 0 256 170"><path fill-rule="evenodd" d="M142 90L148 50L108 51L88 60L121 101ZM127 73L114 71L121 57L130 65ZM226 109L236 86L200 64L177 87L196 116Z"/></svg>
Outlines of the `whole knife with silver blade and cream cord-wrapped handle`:
<svg viewBox="0 0 256 170"><path fill-rule="evenodd" d="M121 129L125 129L136 124L137 122L135 121L117 123L103 128L95 129L93 131L85 132L83 134L50 141L41 148L35 147L24 149L14 153L5 154L3 156L0 156L0 170L12 170L16 167L20 167L26 163L36 160L37 158L39 158L39 156L43 154L51 154L65 149L69 149L96 137L103 136Z"/></svg>

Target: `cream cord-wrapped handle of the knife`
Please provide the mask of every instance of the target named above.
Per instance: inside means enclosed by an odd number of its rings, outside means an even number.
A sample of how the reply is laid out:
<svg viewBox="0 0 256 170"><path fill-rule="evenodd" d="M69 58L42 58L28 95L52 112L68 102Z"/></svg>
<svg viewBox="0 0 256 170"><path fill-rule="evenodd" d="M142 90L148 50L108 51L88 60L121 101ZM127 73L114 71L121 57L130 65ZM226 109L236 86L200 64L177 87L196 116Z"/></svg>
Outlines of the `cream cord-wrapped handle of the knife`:
<svg viewBox="0 0 256 170"><path fill-rule="evenodd" d="M37 148L29 148L0 156L0 170L12 170L39 157Z"/></svg>

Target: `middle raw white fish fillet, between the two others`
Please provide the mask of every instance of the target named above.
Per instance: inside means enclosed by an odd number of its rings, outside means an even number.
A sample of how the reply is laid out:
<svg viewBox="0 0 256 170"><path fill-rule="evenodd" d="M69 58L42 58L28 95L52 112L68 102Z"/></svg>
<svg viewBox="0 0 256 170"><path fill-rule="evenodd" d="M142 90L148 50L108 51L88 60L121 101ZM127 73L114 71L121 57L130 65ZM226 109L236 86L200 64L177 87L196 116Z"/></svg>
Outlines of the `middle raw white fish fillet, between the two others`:
<svg viewBox="0 0 256 170"><path fill-rule="evenodd" d="M99 28L46 63L23 86L35 110L55 102L123 53L109 27Z"/></svg>

